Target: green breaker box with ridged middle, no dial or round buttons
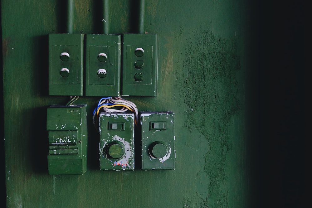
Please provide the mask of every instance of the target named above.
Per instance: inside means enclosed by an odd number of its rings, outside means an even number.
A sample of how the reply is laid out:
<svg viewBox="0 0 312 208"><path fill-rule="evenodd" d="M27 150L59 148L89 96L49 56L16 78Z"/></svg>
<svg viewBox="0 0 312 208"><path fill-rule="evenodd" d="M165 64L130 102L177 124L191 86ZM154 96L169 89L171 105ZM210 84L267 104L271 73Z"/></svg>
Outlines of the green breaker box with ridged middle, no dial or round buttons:
<svg viewBox="0 0 312 208"><path fill-rule="evenodd" d="M87 170L86 105L58 106L47 109L50 175L83 174Z"/></svg>

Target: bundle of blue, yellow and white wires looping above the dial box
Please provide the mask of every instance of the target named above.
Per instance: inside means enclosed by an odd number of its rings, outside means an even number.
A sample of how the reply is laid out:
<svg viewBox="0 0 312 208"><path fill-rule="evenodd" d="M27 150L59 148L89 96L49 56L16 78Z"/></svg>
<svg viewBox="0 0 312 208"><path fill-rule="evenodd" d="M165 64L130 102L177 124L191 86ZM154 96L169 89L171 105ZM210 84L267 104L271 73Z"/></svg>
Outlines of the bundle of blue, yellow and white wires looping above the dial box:
<svg viewBox="0 0 312 208"><path fill-rule="evenodd" d="M134 113L134 123L138 124L139 114L138 108L133 102L125 100L121 97L104 97L99 100L97 107L93 111L93 124L97 128L100 111L106 113L123 113L126 111Z"/></svg>

